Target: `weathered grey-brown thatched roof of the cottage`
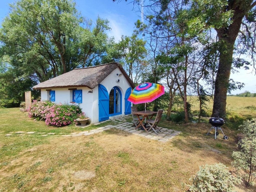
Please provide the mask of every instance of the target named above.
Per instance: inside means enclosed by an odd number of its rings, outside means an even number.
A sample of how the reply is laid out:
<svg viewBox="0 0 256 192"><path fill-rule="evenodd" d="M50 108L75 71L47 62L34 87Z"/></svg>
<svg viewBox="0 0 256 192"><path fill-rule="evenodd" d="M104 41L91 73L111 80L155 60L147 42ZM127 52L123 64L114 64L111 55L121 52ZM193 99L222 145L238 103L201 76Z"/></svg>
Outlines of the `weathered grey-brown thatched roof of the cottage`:
<svg viewBox="0 0 256 192"><path fill-rule="evenodd" d="M131 87L134 88L134 83L124 71L122 65L114 62L92 67L77 68L45 82L39 83L35 85L33 89L62 87L89 87L90 89L93 89L117 67L119 67L124 77L130 83Z"/></svg>

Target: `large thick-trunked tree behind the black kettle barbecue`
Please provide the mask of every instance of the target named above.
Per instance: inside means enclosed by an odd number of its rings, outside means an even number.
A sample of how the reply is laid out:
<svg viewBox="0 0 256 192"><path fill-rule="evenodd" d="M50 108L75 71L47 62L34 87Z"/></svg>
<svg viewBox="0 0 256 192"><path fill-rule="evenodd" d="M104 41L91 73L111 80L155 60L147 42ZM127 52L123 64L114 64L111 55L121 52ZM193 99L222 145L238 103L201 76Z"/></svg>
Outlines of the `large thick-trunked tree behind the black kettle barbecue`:
<svg viewBox="0 0 256 192"><path fill-rule="evenodd" d="M233 51L243 19L255 18L256 1L201 1L191 3L191 32L200 34L215 29L219 42L219 64L215 80L212 116L224 117L232 69ZM250 15L251 17L248 17Z"/></svg>

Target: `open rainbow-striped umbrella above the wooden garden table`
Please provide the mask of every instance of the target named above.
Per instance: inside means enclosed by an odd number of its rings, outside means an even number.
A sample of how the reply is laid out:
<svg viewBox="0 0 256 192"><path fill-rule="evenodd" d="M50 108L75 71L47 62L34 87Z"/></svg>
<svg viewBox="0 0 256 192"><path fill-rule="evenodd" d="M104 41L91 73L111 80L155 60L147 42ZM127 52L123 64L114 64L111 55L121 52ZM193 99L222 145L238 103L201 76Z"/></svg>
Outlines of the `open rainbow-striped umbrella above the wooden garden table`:
<svg viewBox="0 0 256 192"><path fill-rule="evenodd" d="M151 102L164 94L164 86L156 83L142 83L135 87L127 99L133 104Z"/></svg>

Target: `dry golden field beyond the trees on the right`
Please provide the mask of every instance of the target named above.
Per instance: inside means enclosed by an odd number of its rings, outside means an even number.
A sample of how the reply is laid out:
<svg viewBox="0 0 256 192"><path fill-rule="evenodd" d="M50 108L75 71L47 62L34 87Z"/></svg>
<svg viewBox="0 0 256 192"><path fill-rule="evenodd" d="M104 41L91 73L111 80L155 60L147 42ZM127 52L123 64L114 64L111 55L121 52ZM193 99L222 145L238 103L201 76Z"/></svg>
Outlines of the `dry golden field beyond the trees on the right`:
<svg viewBox="0 0 256 192"><path fill-rule="evenodd" d="M192 104L192 110L199 110L199 101L196 96L188 96L189 103ZM210 99L207 102L207 111L211 114L213 106L213 100ZM252 107L248 106L254 106ZM246 108L248 107L248 108ZM249 116L256 117L256 97L235 97L235 96L227 96L227 111L231 113L235 113L240 116Z"/></svg>

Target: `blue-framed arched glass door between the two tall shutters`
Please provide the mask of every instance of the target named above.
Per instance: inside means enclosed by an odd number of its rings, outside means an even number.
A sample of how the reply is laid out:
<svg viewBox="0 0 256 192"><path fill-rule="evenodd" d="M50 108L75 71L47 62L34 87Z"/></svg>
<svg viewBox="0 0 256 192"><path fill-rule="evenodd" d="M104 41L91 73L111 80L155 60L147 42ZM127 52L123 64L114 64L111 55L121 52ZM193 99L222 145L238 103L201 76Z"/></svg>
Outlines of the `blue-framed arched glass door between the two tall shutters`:
<svg viewBox="0 0 256 192"><path fill-rule="evenodd" d="M118 87L113 87L109 93L109 116L122 114L122 93Z"/></svg>

